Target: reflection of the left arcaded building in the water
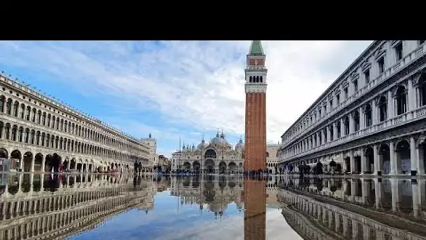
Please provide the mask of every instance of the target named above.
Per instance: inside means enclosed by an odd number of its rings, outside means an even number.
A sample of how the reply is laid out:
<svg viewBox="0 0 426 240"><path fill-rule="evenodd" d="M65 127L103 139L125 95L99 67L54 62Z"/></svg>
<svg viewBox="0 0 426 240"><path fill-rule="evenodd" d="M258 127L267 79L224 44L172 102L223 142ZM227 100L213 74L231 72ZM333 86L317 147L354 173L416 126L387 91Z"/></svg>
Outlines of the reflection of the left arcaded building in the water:
<svg viewBox="0 0 426 240"><path fill-rule="evenodd" d="M155 186L122 175L0 174L0 239L64 239L128 208L147 213Z"/></svg>

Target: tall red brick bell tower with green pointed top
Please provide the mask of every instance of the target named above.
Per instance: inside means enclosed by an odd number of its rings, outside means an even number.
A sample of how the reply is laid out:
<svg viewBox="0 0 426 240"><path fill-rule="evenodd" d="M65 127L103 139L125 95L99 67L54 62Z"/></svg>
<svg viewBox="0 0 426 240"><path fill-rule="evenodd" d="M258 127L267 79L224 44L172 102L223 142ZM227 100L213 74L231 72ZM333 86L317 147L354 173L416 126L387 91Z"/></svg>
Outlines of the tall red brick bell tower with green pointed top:
<svg viewBox="0 0 426 240"><path fill-rule="evenodd" d="M252 41L245 69L244 171L266 169L266 55L261 41Z"/></svg>

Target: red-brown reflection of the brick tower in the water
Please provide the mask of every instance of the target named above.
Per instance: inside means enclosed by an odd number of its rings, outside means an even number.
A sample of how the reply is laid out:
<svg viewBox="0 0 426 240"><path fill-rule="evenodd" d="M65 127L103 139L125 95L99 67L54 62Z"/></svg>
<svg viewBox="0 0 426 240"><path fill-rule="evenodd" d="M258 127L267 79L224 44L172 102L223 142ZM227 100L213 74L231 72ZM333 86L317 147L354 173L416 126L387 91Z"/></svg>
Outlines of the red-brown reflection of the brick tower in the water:
<svg viewBox="0 0 426 240"><path fill-rule="evenodd" d="M266 239L266 182L244 180L244 239Z"/></svg>

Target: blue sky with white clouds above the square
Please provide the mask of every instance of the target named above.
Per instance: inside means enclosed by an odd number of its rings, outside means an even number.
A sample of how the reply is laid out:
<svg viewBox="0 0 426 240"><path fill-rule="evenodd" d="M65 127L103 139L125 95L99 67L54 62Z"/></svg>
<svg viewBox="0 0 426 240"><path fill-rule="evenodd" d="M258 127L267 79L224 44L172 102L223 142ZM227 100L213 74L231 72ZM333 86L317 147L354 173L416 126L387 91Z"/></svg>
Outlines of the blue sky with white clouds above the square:
<svg viewBox="0 0 426 240"><path fill-rule="evenodd" d="M280 135L371 41L263 41L268 141ZM223 129L244 134L249 41L0 41L0 70L170 156Z"/></svg>

